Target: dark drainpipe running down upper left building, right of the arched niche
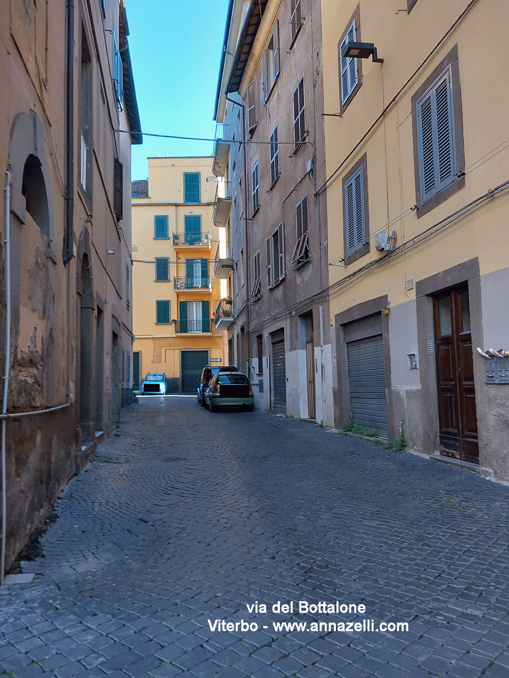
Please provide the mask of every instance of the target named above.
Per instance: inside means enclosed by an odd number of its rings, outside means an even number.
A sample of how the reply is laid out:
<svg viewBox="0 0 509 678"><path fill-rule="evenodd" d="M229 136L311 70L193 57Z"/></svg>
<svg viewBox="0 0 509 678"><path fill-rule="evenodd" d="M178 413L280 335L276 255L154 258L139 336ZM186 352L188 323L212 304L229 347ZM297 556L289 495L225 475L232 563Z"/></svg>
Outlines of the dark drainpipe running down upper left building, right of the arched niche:
<svg viewBox="0 0 509 678"><path fill-rule="evenodd" d="M67 3L67 195L64 266L73 258L74 211L74 0Z"/></svg>

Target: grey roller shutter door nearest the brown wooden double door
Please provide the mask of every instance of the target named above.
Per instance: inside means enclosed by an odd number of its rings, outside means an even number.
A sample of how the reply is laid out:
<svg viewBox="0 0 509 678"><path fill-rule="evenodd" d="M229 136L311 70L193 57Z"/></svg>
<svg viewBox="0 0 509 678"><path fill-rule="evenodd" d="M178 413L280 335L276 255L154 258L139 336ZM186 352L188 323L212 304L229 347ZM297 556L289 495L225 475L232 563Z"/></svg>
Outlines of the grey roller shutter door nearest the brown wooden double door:
<svg viewBox="0 0 509 678"><path fill-rule="evenodd" d="M387 398L381 334L347 343L350 414L354 424L387 437Z"/></svg>

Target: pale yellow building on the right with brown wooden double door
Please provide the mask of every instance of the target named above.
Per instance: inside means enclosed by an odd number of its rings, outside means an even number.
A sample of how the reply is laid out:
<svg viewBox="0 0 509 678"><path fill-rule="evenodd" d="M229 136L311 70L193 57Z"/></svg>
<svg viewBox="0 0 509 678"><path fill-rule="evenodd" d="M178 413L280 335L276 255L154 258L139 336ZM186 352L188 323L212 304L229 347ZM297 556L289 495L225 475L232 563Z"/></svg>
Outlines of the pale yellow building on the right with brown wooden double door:
<svg viewBox="0 0 509 678"><path fill-rule="evenodd" d="M509 350L509 88L485 49L509 7L495 4L322 0L317 191L336 426L403 431L508 480L508 358L489 353ZM368 44L352 57L350 43Z"/></svg>

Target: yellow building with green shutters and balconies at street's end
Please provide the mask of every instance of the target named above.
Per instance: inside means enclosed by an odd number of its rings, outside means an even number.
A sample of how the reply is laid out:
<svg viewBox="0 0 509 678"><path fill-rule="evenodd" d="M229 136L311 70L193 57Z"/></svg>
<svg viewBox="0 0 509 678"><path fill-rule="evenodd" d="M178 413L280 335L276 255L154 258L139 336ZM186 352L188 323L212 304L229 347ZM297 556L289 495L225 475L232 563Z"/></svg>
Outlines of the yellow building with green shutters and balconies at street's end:
<svg viewBox="0 0 509 678"><path fill-rule="evenodd" d="M226 285L214 278L216 184L210 157L149 158L148 180L132 182L135 390L163 372L168 393L195 393L206 364L227 364L215 323Z"/></svg>

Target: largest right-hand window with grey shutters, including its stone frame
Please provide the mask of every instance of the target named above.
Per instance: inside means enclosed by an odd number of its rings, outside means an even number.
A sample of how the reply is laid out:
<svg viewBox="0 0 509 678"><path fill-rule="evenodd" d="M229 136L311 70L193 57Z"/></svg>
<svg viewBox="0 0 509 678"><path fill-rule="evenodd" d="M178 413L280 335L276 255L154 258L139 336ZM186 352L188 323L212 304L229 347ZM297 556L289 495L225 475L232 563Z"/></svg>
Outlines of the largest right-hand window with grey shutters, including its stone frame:
<svg viewBox="0 0 509 678"><path fill-rule="evenodd" d="M417 218L465 185L457 45L412 96Z"/></svg>

